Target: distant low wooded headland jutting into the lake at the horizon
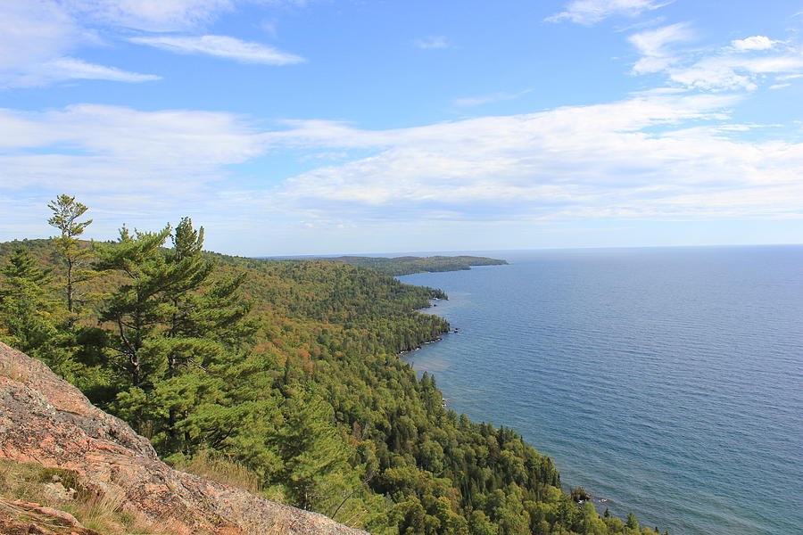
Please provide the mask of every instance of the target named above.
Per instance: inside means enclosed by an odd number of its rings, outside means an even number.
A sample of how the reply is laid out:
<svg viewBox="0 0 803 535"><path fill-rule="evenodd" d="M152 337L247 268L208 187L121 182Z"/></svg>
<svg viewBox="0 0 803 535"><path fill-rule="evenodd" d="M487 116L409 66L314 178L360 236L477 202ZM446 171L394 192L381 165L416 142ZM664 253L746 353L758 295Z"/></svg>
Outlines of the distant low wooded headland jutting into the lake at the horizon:
<svg viewBox="0 0 803 535"><path fill-rule="evenodd" d="M319 258L324 262L338 262L360 268L376 269L385 275L410 275L412 273L426 273L436 271L459 271L471 269L472 266L501 266L507 264L506 260L489 259L476 256L431 256L431 257L326 257Z"/></svg>

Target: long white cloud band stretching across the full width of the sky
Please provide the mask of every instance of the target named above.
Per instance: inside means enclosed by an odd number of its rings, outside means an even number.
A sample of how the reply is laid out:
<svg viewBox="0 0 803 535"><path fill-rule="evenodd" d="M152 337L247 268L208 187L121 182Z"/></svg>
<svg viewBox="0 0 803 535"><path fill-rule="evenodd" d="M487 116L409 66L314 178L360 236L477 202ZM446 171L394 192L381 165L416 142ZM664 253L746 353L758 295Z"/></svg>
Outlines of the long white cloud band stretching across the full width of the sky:
<svg viewBox="0 0 803 535"><path fill-rule="evenodd" d="M236 214L244 226L265 214L333 226L801 217L803 144L741 140L757 125L729 122L738 102L664 90L388 130L296 120L264 131L228 113L88 104L0 111L0 198L52 196L69 184L112 227L142 213L153 227L202 211ZM280 186L258 176L239 185L228 174L288 150L333 158ZM348 156L354 150L360 157Z"/></svg>

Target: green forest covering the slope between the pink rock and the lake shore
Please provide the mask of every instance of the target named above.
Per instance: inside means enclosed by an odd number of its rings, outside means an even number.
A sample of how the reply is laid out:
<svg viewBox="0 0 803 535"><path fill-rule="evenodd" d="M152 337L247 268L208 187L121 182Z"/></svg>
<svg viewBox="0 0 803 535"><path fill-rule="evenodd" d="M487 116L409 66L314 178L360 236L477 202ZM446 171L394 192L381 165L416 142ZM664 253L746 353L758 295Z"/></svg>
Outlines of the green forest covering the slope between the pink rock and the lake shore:
<svg viewBox="0 0 803 535"><path fill-rule="evenodd" d="M206 253L187 218L87 243L87 208L50 206L54 239L0 244L0 340L168 462L236 462L263 495L377 535L653 533L578 505L549 457L446 409L397 357L448 330L415 311L443 292Z"/></svg>

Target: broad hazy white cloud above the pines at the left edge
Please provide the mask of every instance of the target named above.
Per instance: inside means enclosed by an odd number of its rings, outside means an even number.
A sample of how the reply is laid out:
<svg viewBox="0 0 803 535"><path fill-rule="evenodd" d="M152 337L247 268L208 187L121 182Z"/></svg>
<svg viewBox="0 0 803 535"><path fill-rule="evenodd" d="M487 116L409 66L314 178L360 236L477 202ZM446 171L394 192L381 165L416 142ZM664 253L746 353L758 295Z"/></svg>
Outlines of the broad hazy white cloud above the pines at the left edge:
<svg viewBox="0 0 803 535"><path fill-rule="evenodd" d="M195 191L223 166L261 154L244 121L206 111L136 111L81 104L62 111L0 111L0 191L112 190L149 198ZM145 193L147 192L147 193Z"/></svg>

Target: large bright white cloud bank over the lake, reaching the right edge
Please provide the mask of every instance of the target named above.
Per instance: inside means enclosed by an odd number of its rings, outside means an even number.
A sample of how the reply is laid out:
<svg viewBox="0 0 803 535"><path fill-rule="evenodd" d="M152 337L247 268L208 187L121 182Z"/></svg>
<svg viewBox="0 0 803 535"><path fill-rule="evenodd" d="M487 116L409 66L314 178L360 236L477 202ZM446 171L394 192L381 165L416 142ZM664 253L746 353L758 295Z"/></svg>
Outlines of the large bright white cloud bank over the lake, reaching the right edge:
<svg viewBox="0 0 803 535"><path fill-rule="evenodd" d="M681 128L726 119L722 110L735 102L733 95L656 93L383 131L298 121L266 134L266 141L375 153L293 177L280 193L244 193L241 202L264 208L281 199L308 216L348 213L358 220L434 213L495 221L799 213L803 144L747 143L730 139L727 128ZM700 202L707 195L716 199L710 208Z"/></svg>

